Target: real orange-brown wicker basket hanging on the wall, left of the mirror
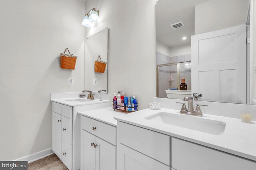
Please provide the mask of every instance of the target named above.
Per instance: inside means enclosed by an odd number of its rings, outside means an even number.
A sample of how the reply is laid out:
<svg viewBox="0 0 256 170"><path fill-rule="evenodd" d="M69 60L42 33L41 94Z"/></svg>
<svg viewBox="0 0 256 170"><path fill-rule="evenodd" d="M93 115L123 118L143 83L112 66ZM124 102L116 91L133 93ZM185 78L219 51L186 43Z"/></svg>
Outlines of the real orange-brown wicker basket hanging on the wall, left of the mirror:
<svg viewBox="0 0 256 170"><path fill-rule="evenodd" d="M69 50L68 53L69 54L65 54L66 50L68 50L68 48L65 49L64 53L60 53L60 67L62 69L72 69L74 70L76 67L76 55L70 54Z"/></svg>

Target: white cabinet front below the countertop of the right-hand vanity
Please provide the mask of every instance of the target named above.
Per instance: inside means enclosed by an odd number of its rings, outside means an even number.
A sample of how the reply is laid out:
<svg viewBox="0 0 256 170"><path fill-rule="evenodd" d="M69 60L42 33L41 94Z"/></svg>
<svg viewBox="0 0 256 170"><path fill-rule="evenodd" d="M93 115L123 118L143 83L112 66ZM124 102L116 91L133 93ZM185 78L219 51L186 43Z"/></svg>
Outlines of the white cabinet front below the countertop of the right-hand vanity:
<svg viewBox="0 0 256 170"><path fill-rule="evenodd" d="M256 170L252 160L121 121L117 125L118 170Z"/></svg>

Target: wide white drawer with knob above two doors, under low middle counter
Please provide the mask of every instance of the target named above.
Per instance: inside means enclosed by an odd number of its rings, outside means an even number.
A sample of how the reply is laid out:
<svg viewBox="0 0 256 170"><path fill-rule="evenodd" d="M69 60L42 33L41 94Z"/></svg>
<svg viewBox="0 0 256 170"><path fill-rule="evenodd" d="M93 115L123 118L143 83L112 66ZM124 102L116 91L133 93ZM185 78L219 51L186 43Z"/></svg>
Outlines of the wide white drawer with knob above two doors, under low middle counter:
<svg viewBox="0 0 256 170"><path fill-rule="evenodd" d="M81 128L116 145L116 127L81 116Z"/></svg>

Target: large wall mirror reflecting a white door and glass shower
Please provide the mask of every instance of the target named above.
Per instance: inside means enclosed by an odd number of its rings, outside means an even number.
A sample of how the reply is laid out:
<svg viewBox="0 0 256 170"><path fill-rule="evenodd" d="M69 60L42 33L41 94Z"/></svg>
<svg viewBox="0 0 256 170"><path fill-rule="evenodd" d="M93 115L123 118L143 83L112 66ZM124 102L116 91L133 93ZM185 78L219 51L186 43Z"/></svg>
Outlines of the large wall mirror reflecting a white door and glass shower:
<svg viewBox="0 0 256 170"><path fill-rule="evenodd" d="M250 0L158 0L157 97L250 104L247 38Z"/></svg>

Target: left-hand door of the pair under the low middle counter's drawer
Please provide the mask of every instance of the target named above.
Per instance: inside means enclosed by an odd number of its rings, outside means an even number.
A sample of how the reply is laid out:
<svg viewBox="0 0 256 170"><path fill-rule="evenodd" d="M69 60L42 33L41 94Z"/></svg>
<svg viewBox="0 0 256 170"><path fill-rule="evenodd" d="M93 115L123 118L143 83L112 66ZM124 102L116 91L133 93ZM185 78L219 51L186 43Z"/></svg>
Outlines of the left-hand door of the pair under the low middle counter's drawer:
<svg viewBox="0 0 256 170"><path fill-rule="evenodd" d="M81 130L80 170L95 170L95 136Z"/></svg>

